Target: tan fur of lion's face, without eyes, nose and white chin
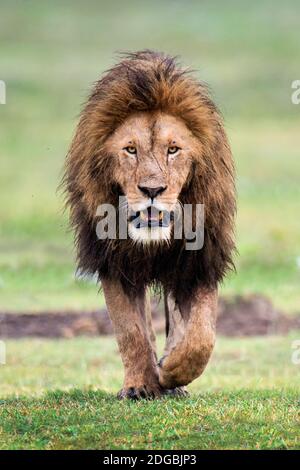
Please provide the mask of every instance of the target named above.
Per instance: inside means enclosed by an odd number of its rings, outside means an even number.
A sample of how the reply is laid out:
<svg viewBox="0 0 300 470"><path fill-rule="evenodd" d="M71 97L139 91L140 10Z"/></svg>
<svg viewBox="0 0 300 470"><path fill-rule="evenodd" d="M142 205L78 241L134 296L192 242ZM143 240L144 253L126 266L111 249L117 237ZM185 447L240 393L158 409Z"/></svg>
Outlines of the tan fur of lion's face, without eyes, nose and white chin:
<svg viewBox="0 0 300 470"><path fill-rule="evenodd" d="M127 145L137 148L137 157L128 156ZM169 146L180 151L167 156ZM199 141L178 117L162 112L140 112L128 117L108 138L107 153L117 156L115 179L122 187L129 207L138 209L147 201L139 186L166 187L159 203L167 210L175 207L178 195L187 181L193 158L201 152Z"/></svg>

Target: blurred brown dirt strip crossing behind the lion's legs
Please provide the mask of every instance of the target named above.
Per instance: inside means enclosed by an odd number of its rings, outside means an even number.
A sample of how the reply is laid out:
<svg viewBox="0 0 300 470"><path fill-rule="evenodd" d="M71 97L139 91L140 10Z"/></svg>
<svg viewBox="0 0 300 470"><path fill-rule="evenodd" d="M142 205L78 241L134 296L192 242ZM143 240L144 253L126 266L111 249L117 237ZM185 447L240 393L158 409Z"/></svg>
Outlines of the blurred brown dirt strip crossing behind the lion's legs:
<svg viewBox="0 0 300 470"><path fill-rule="evenodd" d="M153 303L153 319L157 332L164 331L164 314ZM300 315L287 316L274 309L265 297L253 295L221 299L218 311L218 334L256 336L286 334L300 329ZM105 309L94 312L0 312L0 338L44 337L72 338L112 334L112 325Z"/></svg>

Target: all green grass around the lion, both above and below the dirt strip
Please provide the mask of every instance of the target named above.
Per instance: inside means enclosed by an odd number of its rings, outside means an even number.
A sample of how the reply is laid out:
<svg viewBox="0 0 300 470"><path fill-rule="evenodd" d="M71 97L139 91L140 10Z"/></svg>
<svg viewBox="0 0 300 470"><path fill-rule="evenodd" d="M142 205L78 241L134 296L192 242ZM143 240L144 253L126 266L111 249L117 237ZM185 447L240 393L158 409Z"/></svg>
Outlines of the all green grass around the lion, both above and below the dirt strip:
<svg viewBox="0 0 300 470"><path fill-rule="evenodd" d="M81 103L116 50L180 55L213 89L237 168L237 274L223 295L300 306L297 0L1 3L0 311L94 309L56 188ZM218 341L185 401L119 403L111 338L7 341L0 448L299 448L287 337ZM299 367L299 366L298 366Z"/></svg>

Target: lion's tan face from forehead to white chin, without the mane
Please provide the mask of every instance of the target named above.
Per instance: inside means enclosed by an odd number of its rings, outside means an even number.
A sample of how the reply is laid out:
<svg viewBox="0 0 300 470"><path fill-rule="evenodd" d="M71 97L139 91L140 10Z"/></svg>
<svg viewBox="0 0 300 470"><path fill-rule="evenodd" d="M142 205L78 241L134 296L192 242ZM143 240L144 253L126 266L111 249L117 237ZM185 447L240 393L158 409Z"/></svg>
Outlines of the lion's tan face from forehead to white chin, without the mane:
<svg viewBox="0 0 300 470"><path fill-rule="evenodd" d="M131 237L168 240L179 194L199 152L197 139L177 117L139 112L105 146L116 158L115 180L127 199Z"/></svg>

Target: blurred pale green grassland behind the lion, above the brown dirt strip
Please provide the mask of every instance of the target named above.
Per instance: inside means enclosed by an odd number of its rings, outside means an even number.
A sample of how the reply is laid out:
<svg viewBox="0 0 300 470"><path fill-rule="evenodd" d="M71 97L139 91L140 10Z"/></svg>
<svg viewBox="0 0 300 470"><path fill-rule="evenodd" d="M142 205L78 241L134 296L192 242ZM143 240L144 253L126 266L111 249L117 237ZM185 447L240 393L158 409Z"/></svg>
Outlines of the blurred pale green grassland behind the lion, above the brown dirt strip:
<svg viewBox="0 0 300 470"><path fill-rule="evenodd" d="M237 169L237 274L224 295L260 292L300 310L300 4L272 1L1 1L0 310L97 308L76 280L56 193L78 113L118 50L182 57L220 106Z"/></svg>

